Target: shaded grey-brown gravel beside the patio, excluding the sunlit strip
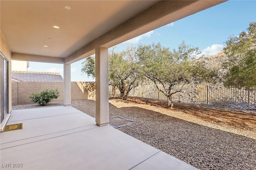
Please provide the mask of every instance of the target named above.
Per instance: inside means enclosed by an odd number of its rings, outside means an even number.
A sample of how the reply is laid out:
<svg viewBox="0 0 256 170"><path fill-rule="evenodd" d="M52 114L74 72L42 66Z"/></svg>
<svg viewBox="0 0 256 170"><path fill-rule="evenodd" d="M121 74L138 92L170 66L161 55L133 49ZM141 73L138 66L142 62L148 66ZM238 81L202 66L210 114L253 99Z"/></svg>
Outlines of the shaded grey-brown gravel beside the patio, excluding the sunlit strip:
<svg viewBox="0 0 256 170"><path fill-rule="evenodd" d="M72 107L95 117L95 101L72 101ZM52 102L48 107L61 106ZM13 109L39 108L36 104ZM109 105L110 117L136 121L120 127L125 132L202 170L256 170L256 140L238 134L191 123L140 107Z"/></svg>

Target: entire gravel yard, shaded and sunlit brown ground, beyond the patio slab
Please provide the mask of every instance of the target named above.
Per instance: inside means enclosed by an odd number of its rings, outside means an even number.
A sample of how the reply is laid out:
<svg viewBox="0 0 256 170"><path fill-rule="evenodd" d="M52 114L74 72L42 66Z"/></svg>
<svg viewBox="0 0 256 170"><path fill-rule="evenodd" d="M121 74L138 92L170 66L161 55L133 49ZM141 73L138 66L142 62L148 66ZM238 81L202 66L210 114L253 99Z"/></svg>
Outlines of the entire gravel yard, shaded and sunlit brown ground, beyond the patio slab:
<svg viewBox="0 0 256 170"><path fill-rule="evenodd" d="M72 101L72 107L95 117L95 101ZM48 105L58 106L63 102ZM39 108L36 104L13 109ZM118 128L196 168L256 170L256 113L162 101L110 99L110 117L134 120ZM221 130L220 130L221 129ZM247 137L246 137L247 136Z"/></svg>

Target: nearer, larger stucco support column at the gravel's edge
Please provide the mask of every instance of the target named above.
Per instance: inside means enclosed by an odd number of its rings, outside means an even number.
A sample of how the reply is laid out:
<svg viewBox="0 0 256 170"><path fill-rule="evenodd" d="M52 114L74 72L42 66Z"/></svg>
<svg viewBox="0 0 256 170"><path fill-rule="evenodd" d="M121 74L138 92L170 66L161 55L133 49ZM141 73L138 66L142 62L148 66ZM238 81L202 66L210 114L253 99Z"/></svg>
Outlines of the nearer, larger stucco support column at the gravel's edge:
<svg viewBox="0 0 256 170"><path fill-rule="evenodd" d="M108 125L108 48L95 49L96 124Z"/></svg>

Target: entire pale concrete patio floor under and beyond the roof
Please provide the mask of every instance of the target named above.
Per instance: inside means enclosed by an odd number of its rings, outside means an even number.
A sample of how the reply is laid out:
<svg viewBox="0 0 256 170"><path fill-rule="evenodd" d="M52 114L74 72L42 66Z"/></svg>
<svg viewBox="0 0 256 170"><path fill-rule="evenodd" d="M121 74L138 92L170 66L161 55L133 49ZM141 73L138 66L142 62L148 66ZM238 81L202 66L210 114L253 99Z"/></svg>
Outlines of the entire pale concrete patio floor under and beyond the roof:
<svg viewBox="0 0 256 170"><path fill-rule="evenodd" d="M12 111L16 123L0 133L1 170L196 169L73 107Z"/></svg>

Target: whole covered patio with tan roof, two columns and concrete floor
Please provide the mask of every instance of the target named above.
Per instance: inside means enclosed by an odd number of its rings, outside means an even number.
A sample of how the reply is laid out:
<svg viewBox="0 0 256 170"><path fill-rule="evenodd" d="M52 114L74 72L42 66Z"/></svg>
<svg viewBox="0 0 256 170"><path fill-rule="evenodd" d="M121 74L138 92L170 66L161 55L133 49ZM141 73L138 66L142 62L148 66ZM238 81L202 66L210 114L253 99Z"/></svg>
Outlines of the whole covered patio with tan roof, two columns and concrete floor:
<svg viewBox="0 0 256 170"><path fill-rule="evenodd" d="M1 169L193 168L108 125L108 48L225 1L1 0L1 131L24 123L0 133ZM95 119L70 107L70 64L93 54ZM64 106L12 111L12 60L63 64Z"/></svg>

